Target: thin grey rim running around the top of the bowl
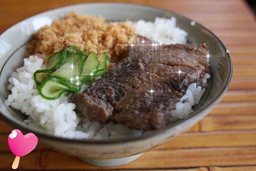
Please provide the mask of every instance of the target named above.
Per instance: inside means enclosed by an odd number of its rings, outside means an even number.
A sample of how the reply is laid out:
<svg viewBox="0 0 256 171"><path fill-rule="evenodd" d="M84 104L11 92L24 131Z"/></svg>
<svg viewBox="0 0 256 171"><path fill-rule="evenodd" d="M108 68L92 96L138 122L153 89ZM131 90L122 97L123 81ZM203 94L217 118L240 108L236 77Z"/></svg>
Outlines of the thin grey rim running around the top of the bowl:
<svg viewBox="0 0 256 171"><path fill-rule="evenodd" d="M54 9L50 9L50 10L47 10L47 11L44 11L44 12L50 12L52 10L57 10L57 9L62 9L62 8L66 8L66 7L72 7L72 6L79 6L79 5L86 5L86 4L109 4L109 5L124 5L124 6L141 6L141 7L146 7L148 9L153 9L153 10L158 10L158 11L163 11L163 12L166 12L166 13L169 13L169 14L174 14L176 16L179 16L181 17L182 19L184 20L190 20L190 21L194 21L194 20L191 20L189 17L186 17L186 16L183 16L182 14L178 14L176 12L172 12L170 10L167 10L167 9L162 9L160 7L155 7L155 6L148 6L148 5L142 5L142 4L137 4L137 3L121 3L121 2L108 2L108 3L104 3L104 2L94 2L94 3L77 3L77 4L72 4L72 5L68 5L68 6L61 6L61 7L58 7L58 8L54 8ZM44 14L44 12L39 12L37 14L34 14L30 17L27 17L23 20L20 20L19 22L15 23L14 25L10 26L8 29L6 29L5 31L3 31L1 35L3 35L7 30L11 29L12 27L15 27L18 23L20 22L23 22L31 17L35 17L39 14ZM212 34L213 37L215 37L220 43L221 45L223 46L223 48L225 49L225 53L227 54L227 57L228 57L228 62L229 62L229 65L230 65L230 70L228 71L228 77L227 77L227 81L225 82L222 90L218 93L218 95L213 98L212 101L208 101L206 104L204 104L204 106L202 107L199 107L197 113L191 117L189 117L188 119L184 120L183 122L180 122L180 124L177 124L177 125L171 125L167 128L164 128L164 129L160 129L160 130L155 130L153 131L152 133L150 134L146 134L146 135L141 135L141 136L127 136L127 137L120 137L120 138L113 138L113 139L70 139L70 138L65 138L65 137L61 137L61 136L55 136L55 135L52 135L52 134L47 134L47 133L44 133L44 132L38 132L37 130L30 130L26 127L24 127L23 125L19 124L18 122L15 122L14 120L12 119L9 119L7 116L5 116L1 111L0 111L0 116L1 118L7 122L9 125L12 125L12 126L15 126L17 128L20 128L26 132L34 132L38 137L41 137L43 139L50 139L50 140L53 140L53 141L62 141L62 142L70 142L70 143L79 143L79 144L94 144L94 145L102 145L102 144L118 144L118 143L123 143L123 142L134 142L134 141L140 141L140 140L144 140L144 139L150 139L151 137L153 136L160 136L162 134L166 134L166 133L169 133L169 130L171 129L175 129L177 127L180 127L180 126L183 126L183 125L186 125L187 123L189 123L191 120L193 120L194 117L196 116L201 116L203 115L203 112L205 110L210 110L212 109L217 103L218 101L221 100L222 96L224 96L224 93L227 91L229 85L230 85L230 82L231 82L231 78L232 78L232 73L233 73L233 64L232 64L232 59L231 59L231 56L230 56L230 52L228 51L228 49L226 48L226 46L224 45L224 43L209 29L207 29L206 27L204 27L201 23L198 23L196 22L196 24L198 26L200 26L201 28L203 29L206 29L210 34ZM8 61L9 58L6 60ZM5 63L6 63L5 61ZM3 67L4 67L5 64L3 64ZM3 100L1 98L1 100ZM3 102L4 103L4 102Z"/></svg>

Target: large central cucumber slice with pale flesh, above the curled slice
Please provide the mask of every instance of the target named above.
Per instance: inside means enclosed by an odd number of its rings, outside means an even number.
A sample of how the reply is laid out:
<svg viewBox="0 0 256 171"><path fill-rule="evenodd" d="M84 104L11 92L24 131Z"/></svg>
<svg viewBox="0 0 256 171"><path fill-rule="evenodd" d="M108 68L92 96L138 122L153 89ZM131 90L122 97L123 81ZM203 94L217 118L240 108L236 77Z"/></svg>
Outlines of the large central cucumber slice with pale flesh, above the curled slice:
<svg viewBox="0 0 256 171"><path fill-rule="evenodd" d="M65 63L50 76L58 76L61 78L76 78L81 75L83 70L83 59L78 54L67 55Z"/></svg>

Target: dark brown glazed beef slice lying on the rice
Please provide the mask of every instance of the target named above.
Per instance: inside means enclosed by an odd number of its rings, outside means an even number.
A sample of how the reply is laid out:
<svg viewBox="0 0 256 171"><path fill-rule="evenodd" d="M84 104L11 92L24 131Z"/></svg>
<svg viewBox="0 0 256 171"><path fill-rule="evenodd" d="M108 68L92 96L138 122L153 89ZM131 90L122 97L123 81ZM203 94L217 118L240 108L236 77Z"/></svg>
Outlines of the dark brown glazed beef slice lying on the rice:
<svg viewBox="0 0 256 171"><path fill-rule="evenodd" d="M113 120L141 130L166 127L189 84L207 72L207 50L205 44L151 44L130 46L128 57L75 94L71 101L77 110L101 123Z"/></svg>

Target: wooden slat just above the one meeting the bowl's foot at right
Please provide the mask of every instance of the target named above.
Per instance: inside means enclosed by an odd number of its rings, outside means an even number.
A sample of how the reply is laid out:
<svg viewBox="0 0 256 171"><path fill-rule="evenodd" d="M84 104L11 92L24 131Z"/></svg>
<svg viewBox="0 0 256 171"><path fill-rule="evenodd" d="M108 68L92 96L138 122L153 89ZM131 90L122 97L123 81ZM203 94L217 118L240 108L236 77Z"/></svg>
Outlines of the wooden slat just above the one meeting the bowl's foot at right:
<svg viewBox="0 0 256 171"><path fill-rule="evenodd" d="M183 133L157 149L255 146L256 130Z"/></svg>

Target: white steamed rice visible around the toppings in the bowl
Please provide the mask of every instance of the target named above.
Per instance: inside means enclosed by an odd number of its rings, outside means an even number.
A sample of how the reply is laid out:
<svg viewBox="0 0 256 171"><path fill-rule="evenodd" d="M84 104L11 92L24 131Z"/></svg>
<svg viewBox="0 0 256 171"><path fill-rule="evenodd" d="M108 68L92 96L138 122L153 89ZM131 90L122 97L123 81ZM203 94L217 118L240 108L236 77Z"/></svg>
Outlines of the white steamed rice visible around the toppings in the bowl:
<svg viewBox="0 0 256 171"><path fill-rule="evenodd" d="M145 22L139 20L134 23L138 34L158 42L186 43L187 33L176 27L176 18L171 19L156 18L155 22ZM127 135L141 135L141 130L133 130L122 124L102 125L97 121L90 121L74 109L76 105L68 101L68 96L62 95L59 99L47 100L41 97L33 79L36 70L44 69L43 60L35 55L24 59L24 66L13 72L9 78L10 84L7 89L12 93L5 101L6 105L17 110L21 110L28 116L24 120L29 126L36 127L53 133L56 136L68 138L112 138ZM186 94L176 104L176 109L172 110L169 121L183 119L193 112L192 106L198 104L207 87L206 74L201 83L189 85ZM82 88L87 88L84 85Z"/></svg>

